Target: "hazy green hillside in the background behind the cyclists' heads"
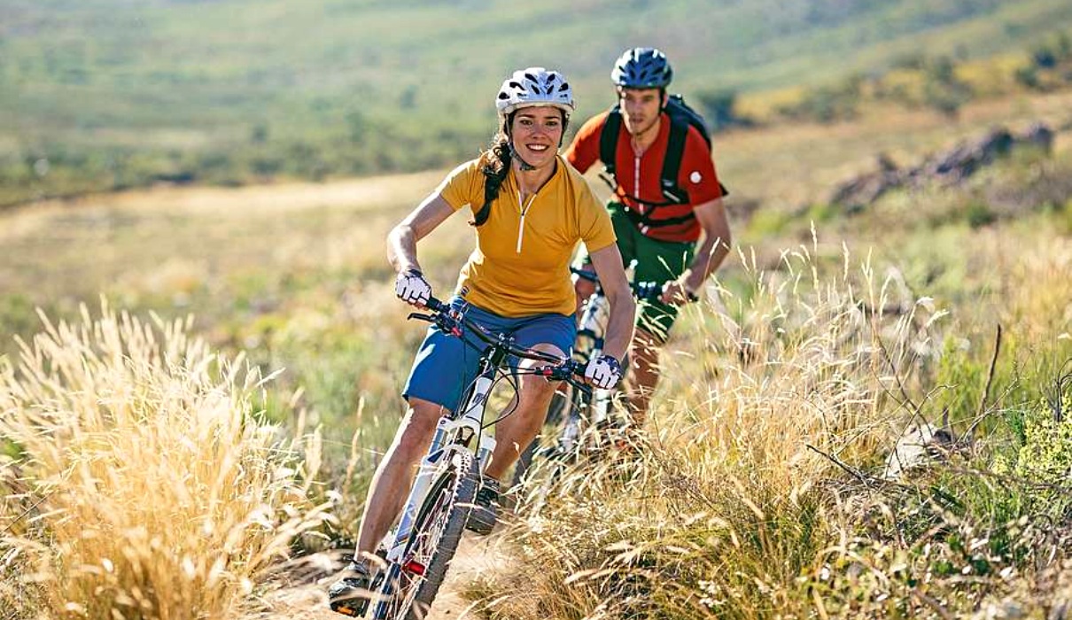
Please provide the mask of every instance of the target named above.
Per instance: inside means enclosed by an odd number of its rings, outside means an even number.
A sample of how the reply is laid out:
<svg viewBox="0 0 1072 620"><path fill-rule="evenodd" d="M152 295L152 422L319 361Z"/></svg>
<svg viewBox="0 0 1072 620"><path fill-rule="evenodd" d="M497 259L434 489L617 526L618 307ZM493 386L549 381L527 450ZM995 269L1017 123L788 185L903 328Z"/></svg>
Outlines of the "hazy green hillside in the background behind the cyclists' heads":
<svg viewBox="0 0 1072 620"><path fill-rule="evenodd" d="M756 91L1070 24L1052 0L8 0L0 205L443 166L487 140L509 70L561 67L590 114L631 45L667 50L685 92Z"/></svg>

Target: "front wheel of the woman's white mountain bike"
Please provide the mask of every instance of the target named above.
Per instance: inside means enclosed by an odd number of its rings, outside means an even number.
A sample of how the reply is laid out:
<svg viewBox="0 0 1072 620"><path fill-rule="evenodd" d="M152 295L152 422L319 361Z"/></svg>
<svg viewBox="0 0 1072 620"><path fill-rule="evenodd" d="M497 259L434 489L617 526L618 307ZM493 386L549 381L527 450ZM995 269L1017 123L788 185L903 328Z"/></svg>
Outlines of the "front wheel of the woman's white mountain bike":
<svg viewBox="0 0 1072 620"><path fill-rule="evenodd" d="M420 620L428 615L458 549L478 486L473 455L455 453L432 482L414 519L399 565L392 609L386 618Z"/></svg>

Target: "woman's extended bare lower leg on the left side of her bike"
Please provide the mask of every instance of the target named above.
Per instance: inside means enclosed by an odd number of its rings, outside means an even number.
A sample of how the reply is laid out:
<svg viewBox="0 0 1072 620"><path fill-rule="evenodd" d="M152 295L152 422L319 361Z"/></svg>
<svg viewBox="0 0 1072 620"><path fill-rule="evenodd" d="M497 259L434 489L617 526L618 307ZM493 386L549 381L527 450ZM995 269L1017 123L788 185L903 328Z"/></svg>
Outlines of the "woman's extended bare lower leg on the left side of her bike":
<svg viewBox="0 0 1072 620"><path fill-rule="evenodd" d="M414 469L435 434L442 407L420 398L410 398L410 410L394 434L394 441L372 477L364 501L364 514L357 535L356 558L372 554L394 523L410 495Z"/></svg>

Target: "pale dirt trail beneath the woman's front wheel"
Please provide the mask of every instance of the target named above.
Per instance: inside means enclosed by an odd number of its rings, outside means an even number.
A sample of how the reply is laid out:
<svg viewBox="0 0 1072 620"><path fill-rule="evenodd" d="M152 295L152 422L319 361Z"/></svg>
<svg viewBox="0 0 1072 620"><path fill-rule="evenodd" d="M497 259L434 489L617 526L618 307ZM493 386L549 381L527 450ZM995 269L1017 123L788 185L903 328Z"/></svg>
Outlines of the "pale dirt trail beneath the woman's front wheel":
<svg viewBox="0 0 1072 620"><path fill-rule="evenodd" d="M505 564L505 554L500 549L497 535L480 538L468 532L462 538L455 555L447 578L440 588L435 604L427 620L475 620L473 603L461 595L466 584L481 573L501 570ZM271 610L258 615L258 620L283 620L308 618L309 620L341 620L327 606L325 590L333 577L325 577L323 583L307 584L271 593L266 603Z"/></svg>

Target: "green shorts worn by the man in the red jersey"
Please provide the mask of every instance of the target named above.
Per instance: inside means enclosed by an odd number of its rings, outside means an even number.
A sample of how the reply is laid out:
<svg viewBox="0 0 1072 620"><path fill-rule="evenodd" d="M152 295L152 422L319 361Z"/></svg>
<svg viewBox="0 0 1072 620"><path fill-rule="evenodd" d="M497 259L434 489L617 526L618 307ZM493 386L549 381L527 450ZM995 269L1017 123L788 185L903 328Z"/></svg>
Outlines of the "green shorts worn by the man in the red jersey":
<svg viewBox="0 0 1072 620"><path fill-rule="evenodd" d="M626 266L637 261L635 283L657 282L659 284L676 279L693 262L696 243L658 241L645 237L625 214L620 202L609 202L607 210L617 236L617 249ZM641 301L637 312L637 327L650 333L662 344L670 334L670 328L678 318L678 306L660 302Z"/></svg>

